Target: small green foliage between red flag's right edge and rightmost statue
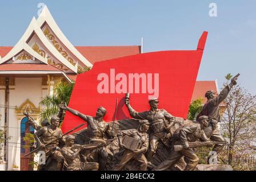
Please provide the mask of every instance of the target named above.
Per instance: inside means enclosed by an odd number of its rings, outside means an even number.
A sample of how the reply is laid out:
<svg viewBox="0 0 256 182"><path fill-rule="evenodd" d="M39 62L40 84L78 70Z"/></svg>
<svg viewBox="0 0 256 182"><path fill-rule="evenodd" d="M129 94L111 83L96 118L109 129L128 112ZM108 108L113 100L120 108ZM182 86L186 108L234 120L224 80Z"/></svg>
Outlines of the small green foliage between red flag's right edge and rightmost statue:
<svg viewBox="0 0 256 182"><path fill-rule="evenodd" d="M197 115L203 108L203 98L198 98L195 101L191 101L189 106L189 113L187 114L187 119L194 121L197 118Z"/></svg>

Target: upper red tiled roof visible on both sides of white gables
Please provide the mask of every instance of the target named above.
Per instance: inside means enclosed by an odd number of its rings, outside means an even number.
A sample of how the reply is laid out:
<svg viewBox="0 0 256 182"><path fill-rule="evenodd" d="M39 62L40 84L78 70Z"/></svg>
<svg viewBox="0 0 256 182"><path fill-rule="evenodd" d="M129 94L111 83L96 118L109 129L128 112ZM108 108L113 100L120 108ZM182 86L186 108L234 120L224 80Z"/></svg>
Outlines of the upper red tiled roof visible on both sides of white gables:
<svg viewBox="0 0 256 182"><path fill-rule="evenodd" d="M13 47L0 47L0 56L4 57ZM94 64L98 61L115 59L141 53L141 46L75 46L77 50Z"/></svg>

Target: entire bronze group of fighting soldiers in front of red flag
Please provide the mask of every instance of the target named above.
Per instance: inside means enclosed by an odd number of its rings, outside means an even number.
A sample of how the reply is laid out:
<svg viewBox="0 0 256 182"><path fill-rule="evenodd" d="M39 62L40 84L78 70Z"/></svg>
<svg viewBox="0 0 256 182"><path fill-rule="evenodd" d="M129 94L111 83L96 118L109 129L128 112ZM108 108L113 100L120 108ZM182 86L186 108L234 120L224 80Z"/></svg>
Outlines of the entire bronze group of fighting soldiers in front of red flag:
<svg viewBox="0 0 256 182"><path fill-rule="evenodd" d="M39 164L38 170L194 170L199 162L197 147L214 144L213 151L218 155L226 143L219 131L219 104L235 84L237 77L218 96L206 92L207 102L196 121L158 109L157 98L149 100L149 111L135 111L129 97L125 105L133 119L116 123L103 121L107 111L102 106L92 117L61 104L59 115L42 126L27 115L29 124L37 130L37 151L46 156L46 163ZM87 122L87 128L63 135L59 122L64 110Z"/></svg>

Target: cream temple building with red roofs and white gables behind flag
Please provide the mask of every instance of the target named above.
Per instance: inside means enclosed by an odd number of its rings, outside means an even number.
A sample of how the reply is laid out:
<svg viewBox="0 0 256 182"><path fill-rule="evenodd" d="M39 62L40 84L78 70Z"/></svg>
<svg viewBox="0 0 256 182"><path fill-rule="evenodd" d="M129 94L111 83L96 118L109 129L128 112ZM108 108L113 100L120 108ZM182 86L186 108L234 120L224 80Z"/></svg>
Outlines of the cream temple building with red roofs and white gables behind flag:
<svg viewBox="0 0 256 182"><path fill-rule="evenodd" d="M37 121L41 98L53 94L59 81L75 81L98 61L138 53L141 46L74 47L45 6L14 47L0 47L0 127L7 131L6 142L0 144L0 170L33 170L34 157L24 156L30 148L23 147L23 137L34 129L23 111ZM204 98L207 90L218 93L217 82L197 81L192 100Z"/></svg>

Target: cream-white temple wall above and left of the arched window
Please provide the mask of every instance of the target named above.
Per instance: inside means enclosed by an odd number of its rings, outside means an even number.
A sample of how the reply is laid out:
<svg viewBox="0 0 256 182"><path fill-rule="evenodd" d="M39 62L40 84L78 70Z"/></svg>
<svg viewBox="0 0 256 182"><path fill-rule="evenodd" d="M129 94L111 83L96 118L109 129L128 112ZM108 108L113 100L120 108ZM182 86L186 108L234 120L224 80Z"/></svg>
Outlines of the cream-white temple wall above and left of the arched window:
<svg viewBox="0 0 256 182"><path fill-rule="evenodd" d="M29 99L37 108L42 97L42 78L15 78L15 89L10 90L9 105L21 106ZM9 110L8 170L20 167L21 119L14 109Z"/></svg>

